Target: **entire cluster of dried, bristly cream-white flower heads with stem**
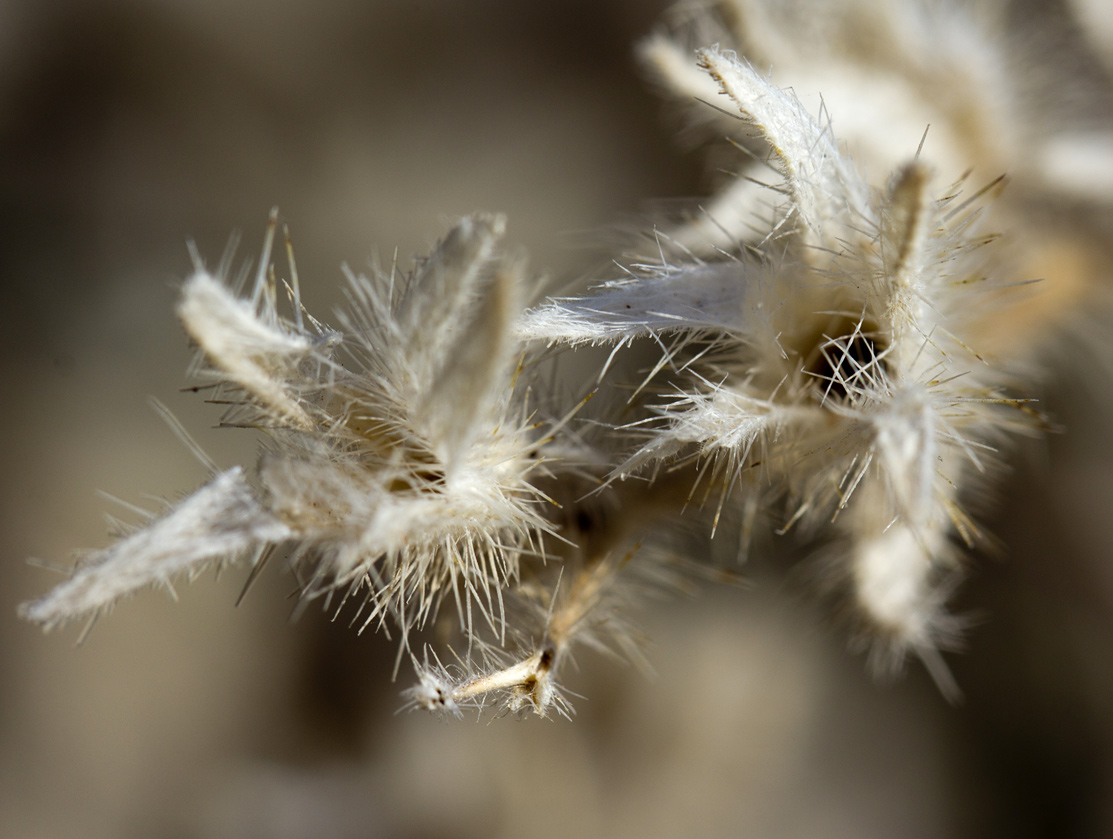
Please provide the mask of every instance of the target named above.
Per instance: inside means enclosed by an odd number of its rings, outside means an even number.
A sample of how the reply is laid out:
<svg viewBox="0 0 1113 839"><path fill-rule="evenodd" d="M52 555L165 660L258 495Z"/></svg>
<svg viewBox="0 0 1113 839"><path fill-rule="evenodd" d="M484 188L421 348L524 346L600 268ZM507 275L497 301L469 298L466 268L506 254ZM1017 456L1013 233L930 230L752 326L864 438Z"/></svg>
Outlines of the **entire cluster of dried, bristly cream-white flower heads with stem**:
<svg viewBox="0 0 1113 839"><path fill-rule="evenodd" d="M349 275L335 326L303 309L292 257L276 279L276 216L242 292L196 258L178 314L224 424L262 434L258 467L214 468L22 615L96 618L277 551L306 600L401 630L413 704L546 715L569 709L578 646L639 654L627 606L699 571L686 540L745 555L789 534L824 557L875 667L912 653L954 691L947 599L984 539L967 506L1042 430L1018 374L1082 290L1034 304L1023 266L1042 244L1016 258L997 241L996 225L1025 230L998 199L1017 138L1018 177L1044 185L1064 138L1020 128L991 31L913 0L678 20L643 57L736 137L737 174L656 230L653 257L577 296L531 305L501 216L462 219L408 275ZM818 117L755 69L770 65L824 90ZM604 362L577 391L559 374L580 356ZM451 658L416 634L442 610L464 639Z"/></svg>

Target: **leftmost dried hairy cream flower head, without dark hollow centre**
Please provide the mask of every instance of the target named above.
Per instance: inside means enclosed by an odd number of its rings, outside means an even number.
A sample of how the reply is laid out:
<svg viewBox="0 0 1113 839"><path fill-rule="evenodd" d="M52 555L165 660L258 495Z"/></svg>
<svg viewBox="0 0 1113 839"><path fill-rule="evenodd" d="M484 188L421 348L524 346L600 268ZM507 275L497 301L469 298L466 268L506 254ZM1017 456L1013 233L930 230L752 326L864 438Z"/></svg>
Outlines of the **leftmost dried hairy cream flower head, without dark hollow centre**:
<svg viewBox="0 0 1113 839"><path fill-rule="evenodd" d="M496 254L499 216L461 220L408 277L348 275L341 330L279 314L269 264L237 296L200 264L178 314L198 375L230 402L224 423L265 434L256 485L233 470L83 563L24 615L96 614L205 563L288 550L305 596L347 592L363 625L420 624L447 593L494 622L518 554L548 525L529 474L534 425L513 394L518 264Z"/></svg>

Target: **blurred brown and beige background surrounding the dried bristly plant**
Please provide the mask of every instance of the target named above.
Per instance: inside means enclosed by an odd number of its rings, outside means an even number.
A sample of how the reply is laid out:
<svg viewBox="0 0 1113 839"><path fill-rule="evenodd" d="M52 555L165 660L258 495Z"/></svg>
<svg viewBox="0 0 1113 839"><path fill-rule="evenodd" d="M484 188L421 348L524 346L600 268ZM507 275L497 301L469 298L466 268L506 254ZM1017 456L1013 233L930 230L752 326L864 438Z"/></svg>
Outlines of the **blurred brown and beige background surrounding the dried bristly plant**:
<svg viewBox="0 0 1113 839"><path fill-rule="evenodd" d="M917 668L873 683L761 557L748 590L646 610L656 677L584 655L571 723L396 715L394 645L290 623L277 569L238 609L244 572L148 593L80 649L16 620L55 580L27 557L127 516L97 490L205 478L148 396L217 463L254 456L179 392L187 238L253 257L278 205L327 315L342 263L474 209L559 285L598 230L705 193L632 58L664 4L0 3L0 836L1113 837L1113 377L1070 353L1044 394L1068 431L1022 448L1008 550L959 596L958 708Z"/></svg>

